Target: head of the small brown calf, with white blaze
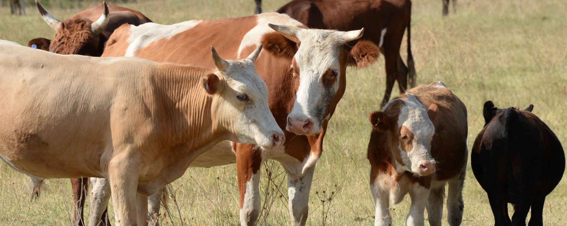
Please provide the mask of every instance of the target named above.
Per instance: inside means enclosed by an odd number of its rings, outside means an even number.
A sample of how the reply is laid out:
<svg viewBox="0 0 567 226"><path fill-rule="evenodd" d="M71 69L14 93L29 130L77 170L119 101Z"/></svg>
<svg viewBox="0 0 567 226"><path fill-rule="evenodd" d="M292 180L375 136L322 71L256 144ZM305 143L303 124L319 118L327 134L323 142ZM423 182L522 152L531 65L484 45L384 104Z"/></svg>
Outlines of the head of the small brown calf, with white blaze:
<svg viewBox="0 0 567 226"><path fill-rule="evenodd" d="M413 101L396 102L393 104L401 105L397 120L382 111L377 111L370 114L370 122L374 129L389 131L392 134L388 140L390 145L388 150L391 150L393 156L407 167L405 170L420 176L434 173L435 159L431 157L431 139L435 134L435 128L431 120L435 118L437 105L425 109L423 105L417 105Z"/></svg>

